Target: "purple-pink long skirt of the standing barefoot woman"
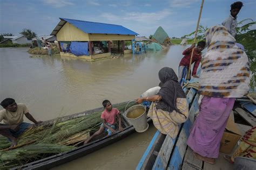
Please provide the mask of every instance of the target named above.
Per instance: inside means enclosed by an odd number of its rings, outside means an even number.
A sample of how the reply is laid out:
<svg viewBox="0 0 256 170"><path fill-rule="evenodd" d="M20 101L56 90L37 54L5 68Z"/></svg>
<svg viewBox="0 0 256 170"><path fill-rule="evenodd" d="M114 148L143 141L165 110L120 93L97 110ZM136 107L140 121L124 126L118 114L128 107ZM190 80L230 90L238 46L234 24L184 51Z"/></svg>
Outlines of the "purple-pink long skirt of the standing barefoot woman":
<svg viewBox="0 0 256 170"><path fill-rule="evenodd" d="M187 145L203 157L218 158L220 140L227 125L235 98L204 96Z"/></svg>

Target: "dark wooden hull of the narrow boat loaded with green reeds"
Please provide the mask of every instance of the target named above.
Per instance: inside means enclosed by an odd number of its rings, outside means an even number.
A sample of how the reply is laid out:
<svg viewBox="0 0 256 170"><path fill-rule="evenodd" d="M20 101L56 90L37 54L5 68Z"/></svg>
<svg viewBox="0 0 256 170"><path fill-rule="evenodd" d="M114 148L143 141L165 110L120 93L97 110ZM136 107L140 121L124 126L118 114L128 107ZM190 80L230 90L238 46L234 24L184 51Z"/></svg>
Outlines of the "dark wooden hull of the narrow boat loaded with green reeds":
<svg viewBox="0 0 256 170"><path fill-rule="evenodd" d="M113 107L118 107L119 105L124 105L127 104L128 102L123 102L123 103L118 103L118 104L113 104ZM93 112L98 112L102 111L103 108L97 108L97 109L92 109L92 110L87 110L84 112L80 112L78 114L70 115L70 116L65 116L60 118L61 121L67 121L69 119L73 118L78 118L82 117L88 114L91 114ZM124 114L124 112L120 111L121 114ZM50 121L44 122L45 125L47 124L52 124L55 121L55 119L52 119ZM147 118L147 122L151 122L151 118ZM131 125L124 116L122 116L122 125L124 127L123 132L117 132L112 134L111 136L108 137L103 137L94 141L91 141L90 143L86 145L79 146L75 148L74 150L68 151L68 152L63 152L59 153L56 155L52 155L47 158L43 158L37 161L30 162L29 164L25 164L22 166L18 166L12 169L49 169L52 167L56 167L61 164L65 164L66 162L75 160L77 158L83 157L84 155L87 155L89 153L92 153L94 151L99 150L100 148L103 148L107 145L110 145L118 140L121 140L129 134L135 132L134 126Z"/></svg>

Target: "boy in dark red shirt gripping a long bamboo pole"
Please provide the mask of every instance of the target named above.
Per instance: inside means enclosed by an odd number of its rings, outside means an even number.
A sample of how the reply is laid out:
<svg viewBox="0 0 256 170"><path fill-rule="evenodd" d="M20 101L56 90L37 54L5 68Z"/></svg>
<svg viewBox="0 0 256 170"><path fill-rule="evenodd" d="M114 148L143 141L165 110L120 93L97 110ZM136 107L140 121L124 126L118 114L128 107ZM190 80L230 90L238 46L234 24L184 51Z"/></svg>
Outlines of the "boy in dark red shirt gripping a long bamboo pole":
<svg viewBox="0 0 256 170"><path fill-rule="evenodd" d="M192 56L192 63L194 63L193 71L192 71L192 76L199 78L197 74L197 68L199 66L199 63L201 61L201 51L205 48L205 42L204 41L199 41L196 47L196 44L192 44L191 47L185 49L185 51L182 53L184 57L181 59L179 63L179 83L182 86L182 79L186 79L187 77L187 72L188 68L190 67L190 58L191 58L191 53L192 49L194 48L193 56ZM191 63L191 65L192 65Z"/></svg>

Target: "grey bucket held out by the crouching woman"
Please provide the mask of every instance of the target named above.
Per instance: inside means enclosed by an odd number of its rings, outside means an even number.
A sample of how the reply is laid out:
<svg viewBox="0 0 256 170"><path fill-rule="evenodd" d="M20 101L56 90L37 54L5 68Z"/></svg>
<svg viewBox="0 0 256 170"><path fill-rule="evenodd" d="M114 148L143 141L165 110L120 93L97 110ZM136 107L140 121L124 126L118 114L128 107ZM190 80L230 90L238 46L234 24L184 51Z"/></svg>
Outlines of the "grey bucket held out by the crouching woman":
<svg viewBox="0 0 256 170"><path fill-rule="evenodd" d="M134 101L130 101L130 102L134 102ZM130 102L128 102L127 105ZM129 121L131 125L134 126L136 132L145 132L149 128L149 124L147 123L146 107L140 104L133 105L131 108L127 110L126 110L126 107L124 112L125 118ZM137 113L136 110L143 110L143 112L140 114L140 113ZM135 117L130 117L134 115Z"/></svg>

